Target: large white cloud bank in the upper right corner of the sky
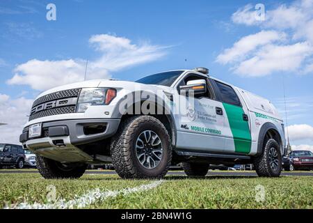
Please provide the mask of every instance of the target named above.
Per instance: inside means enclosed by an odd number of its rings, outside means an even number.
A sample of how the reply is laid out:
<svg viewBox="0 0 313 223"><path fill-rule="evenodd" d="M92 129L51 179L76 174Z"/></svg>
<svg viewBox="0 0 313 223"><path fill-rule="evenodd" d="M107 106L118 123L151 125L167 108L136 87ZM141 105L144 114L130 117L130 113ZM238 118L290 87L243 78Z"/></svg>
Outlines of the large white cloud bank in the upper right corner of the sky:
<svg viewBox="0 0 313 223"><path fill-rule="evenodd" d="M262 31L244 36L218 55L216 61L230 65L233 72L246 77L261 77L277 71L312 73L312 11L313 0L294 1L271 10L266 8L266 20L261 22L256 20L251 4L239 8L232 15L232 22L258 25ZM270 31L272 36L268 35ZM259 44L253 45L252 37L261 33L267 38L259 37ZM274 33L284 33L284 37L275 38Z"/></svg>

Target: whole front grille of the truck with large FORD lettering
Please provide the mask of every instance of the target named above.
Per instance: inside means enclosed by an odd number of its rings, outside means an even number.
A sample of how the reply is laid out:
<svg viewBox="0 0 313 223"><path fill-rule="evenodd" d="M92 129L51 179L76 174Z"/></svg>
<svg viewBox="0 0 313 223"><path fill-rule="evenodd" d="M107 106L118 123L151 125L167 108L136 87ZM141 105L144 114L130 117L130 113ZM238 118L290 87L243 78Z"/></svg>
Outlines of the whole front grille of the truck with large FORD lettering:
<svg viewBox="0 0 313 223"><path fill-rule="evenodd" d="M69 89L49 93L38 98L33 102L29 121L57 114L75 113L77 98L80 92L81 89Z"/></svg>

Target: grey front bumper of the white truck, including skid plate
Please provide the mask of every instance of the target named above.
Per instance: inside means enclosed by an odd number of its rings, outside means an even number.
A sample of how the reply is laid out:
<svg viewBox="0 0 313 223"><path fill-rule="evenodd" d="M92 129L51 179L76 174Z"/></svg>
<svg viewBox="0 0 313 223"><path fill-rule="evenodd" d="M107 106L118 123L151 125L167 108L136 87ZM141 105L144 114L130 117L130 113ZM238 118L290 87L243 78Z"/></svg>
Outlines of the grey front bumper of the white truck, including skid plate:
<svg viewBox="0 0 313 223"><path fill-rule="evenodd" d="M35 154L59 162L93 162L93 157L77 146L109 138L119 125L120 119L106 118L45 122L40 137L29 139L26 127L19 141ZM95 127L97 131L93 130Z"/></svg>

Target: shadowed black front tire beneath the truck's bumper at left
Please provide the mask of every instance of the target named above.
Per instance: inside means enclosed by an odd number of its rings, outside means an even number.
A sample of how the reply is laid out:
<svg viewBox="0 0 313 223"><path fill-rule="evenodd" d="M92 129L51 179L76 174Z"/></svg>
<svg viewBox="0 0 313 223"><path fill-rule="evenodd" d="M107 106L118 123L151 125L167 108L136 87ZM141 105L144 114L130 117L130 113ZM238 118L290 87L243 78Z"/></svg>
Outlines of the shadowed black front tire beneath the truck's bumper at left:
<svg viewBox="0 0 313 223"><path fill-rule="evenodd" d="M41 176L46 179L54 178L80 178L87 169L86 164L73 165L65 170L61 168L60 162L50 160L46 157L36 155L37 169Z"/></svg>

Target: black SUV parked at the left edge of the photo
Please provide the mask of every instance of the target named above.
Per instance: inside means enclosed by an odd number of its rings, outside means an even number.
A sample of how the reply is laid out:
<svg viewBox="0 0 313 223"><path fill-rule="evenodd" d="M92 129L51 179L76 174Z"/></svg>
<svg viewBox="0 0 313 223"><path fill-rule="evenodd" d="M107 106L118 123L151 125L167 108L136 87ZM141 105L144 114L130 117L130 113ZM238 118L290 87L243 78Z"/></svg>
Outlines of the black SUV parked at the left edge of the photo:
<svg viewBox="0 0 313 223"><path fill-rule="evenodd" d="M3 166L15 166L18 169L24 167L25 154L22 146L14 144L0 144L0 168Z"/></svg>

